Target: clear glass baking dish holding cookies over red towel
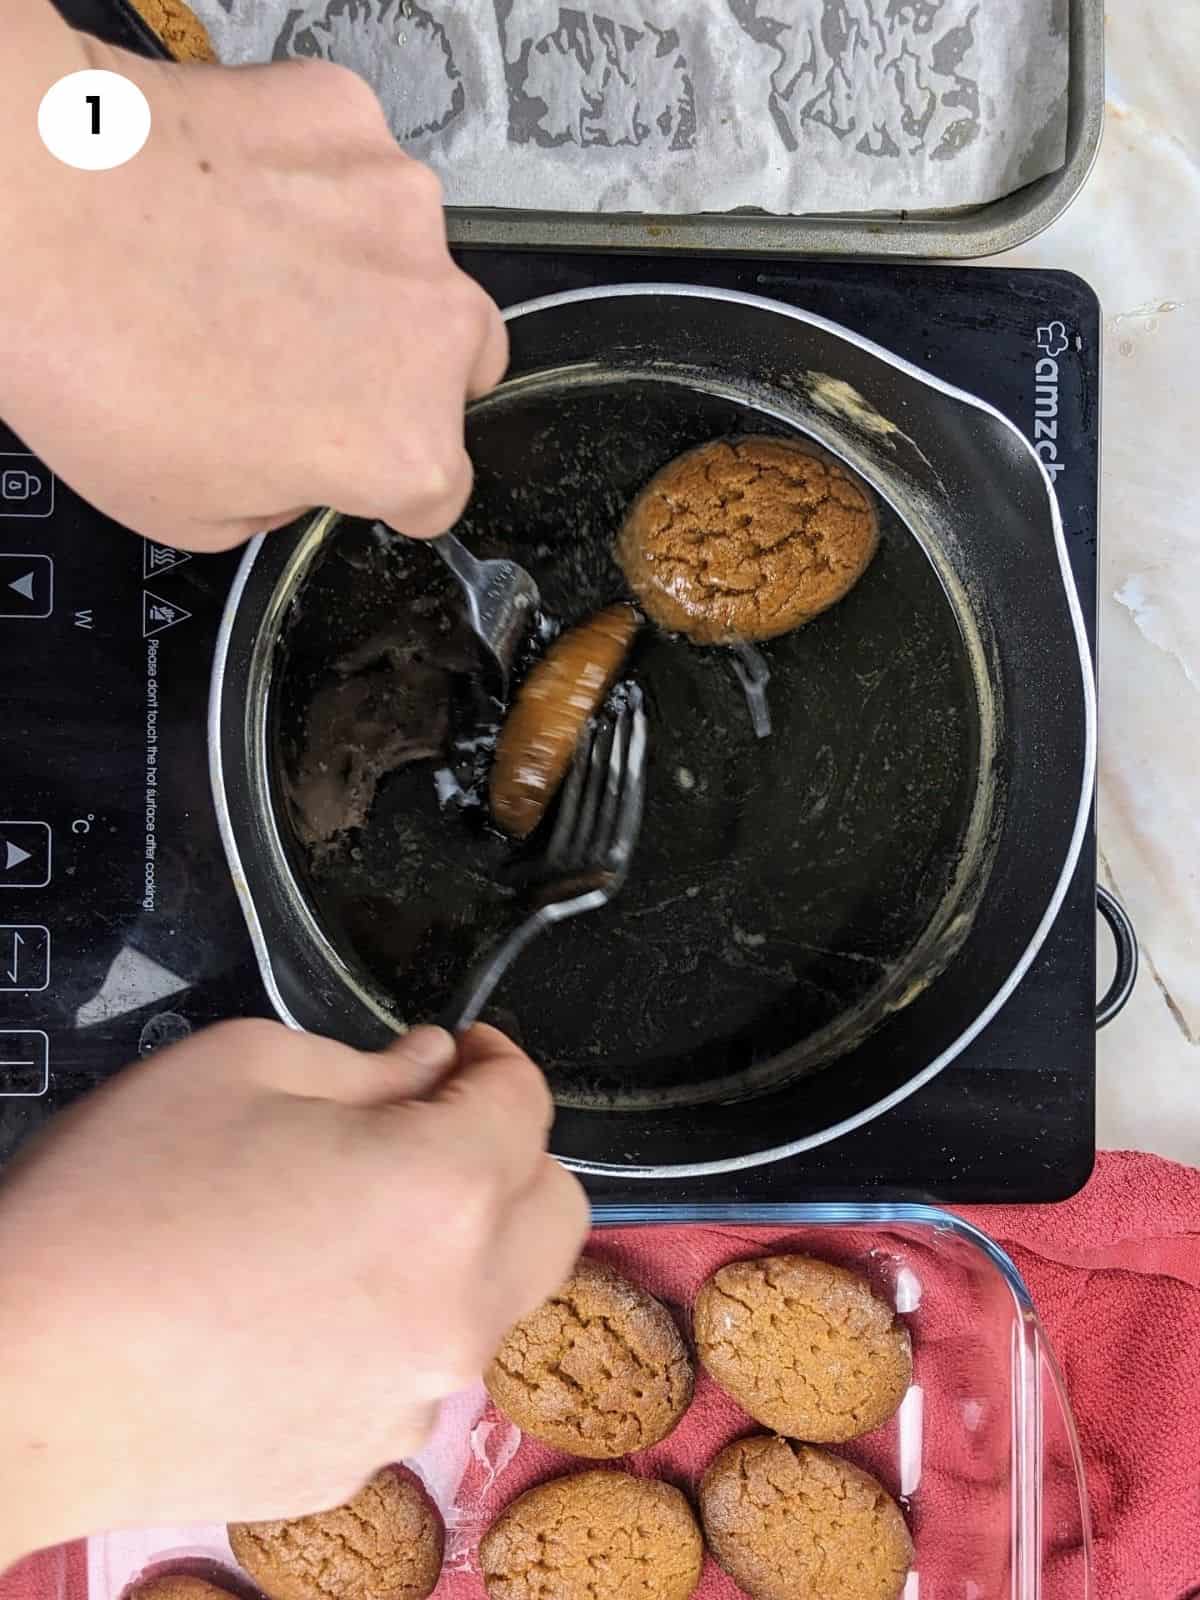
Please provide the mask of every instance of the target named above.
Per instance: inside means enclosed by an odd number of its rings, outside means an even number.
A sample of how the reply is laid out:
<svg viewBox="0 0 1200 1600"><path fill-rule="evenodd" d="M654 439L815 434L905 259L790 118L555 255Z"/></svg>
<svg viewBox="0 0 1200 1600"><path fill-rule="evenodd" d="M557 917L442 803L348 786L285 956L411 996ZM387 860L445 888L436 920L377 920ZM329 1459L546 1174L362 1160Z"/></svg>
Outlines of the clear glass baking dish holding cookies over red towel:
<svg viewBox="0 0 1200 1600"><path fill-rule="evenodd" d="M838 1446L909 1520L904 1600L1091 1600L1083 1464L1062 1378L1021 1275L978 1229L915 1205L624 1205L597 1210L589 1246L664 1299L686 1331L709 1272L778 1250L864 1272L912 1331L914 1382L898 1416ZM715 1453L750 1430L701 1373L688 1416L632 1467L694 1491ZM485 1600L475 1549L490 1522L531 1483L579 1469L520 1435L482 1386L443 1406L410 1464L446 1522L435 1600ZM246 1592L224 1528L158 1528L90 1539L86 1594L64 1579L58 1600L122 1600L162 1570ZM707 1560L696 1600L739 1594Z"/></svg>

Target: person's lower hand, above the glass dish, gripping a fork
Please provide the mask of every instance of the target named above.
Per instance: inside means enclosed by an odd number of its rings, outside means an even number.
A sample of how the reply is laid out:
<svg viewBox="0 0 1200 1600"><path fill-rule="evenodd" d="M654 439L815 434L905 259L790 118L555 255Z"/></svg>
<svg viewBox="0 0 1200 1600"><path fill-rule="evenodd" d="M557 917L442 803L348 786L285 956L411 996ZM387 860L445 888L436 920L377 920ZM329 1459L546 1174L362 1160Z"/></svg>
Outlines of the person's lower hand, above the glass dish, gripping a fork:
<svg viewBox="0 0 1200 1600"><path fill-rule="evenodd" d="M494 1029L360 1054L274 1022L58 1117L0 1182L0 1570L326 1509L411 1453L584 1242L549 1123Z"/></svg>

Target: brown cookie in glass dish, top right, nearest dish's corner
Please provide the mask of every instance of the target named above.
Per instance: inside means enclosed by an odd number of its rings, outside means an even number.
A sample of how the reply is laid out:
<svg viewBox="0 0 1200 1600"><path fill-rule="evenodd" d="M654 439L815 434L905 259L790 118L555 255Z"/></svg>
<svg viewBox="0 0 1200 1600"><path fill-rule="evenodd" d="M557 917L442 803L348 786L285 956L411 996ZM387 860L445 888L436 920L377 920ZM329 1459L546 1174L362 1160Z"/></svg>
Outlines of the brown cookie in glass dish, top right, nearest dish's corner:
<svg viewBox="0 0 1200 1600"><path fill-rule="evenodd" d="M909 1331L856 1272L811 1256L722 1267L696 1296L696 1354L755 1422L814 1443L858 1438L912 1381Z"/></svg>

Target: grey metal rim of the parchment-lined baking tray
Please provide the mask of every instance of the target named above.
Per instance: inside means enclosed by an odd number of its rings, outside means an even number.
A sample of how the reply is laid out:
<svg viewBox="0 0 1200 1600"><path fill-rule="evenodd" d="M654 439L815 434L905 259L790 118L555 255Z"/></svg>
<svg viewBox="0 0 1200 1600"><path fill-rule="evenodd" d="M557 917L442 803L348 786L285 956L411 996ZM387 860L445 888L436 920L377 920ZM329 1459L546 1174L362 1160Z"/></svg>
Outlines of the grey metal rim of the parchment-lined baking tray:
<svg viewBox="0 0 1200 1600"><path fill-rule="evenodd" d="M1104 0L1067 0L1067 155L1056 173L986 205L957 211L774 216L723 211L517 211L451 206L453 245L536 250L718 251L781 256L995 256L1061 216L1091 171L1104 131Z"/></svg>

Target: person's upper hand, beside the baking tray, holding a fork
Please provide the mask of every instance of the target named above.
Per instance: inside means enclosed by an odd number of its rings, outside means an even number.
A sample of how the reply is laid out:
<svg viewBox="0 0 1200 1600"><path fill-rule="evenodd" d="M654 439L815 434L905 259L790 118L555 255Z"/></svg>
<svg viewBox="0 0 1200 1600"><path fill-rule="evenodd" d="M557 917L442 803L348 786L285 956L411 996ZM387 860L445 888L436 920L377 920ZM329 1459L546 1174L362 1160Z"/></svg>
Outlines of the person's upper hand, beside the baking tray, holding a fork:
<svg viewBox="0 0 1200 1600"><path fill-rule="evenodd" d="M54 27L53 67L16 51L22 91L106 67L154 122L125 166L83 173L29 107L0 114L0 416L165 544L224 549L312 506L445 531L470 491L464 403L507 339L373 91L326 62L171 66Z"/></svg>

